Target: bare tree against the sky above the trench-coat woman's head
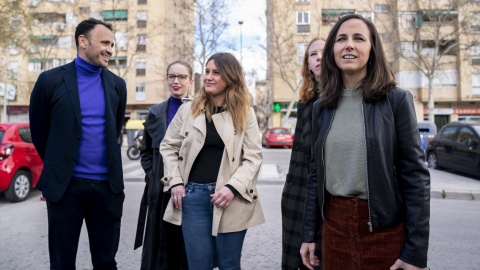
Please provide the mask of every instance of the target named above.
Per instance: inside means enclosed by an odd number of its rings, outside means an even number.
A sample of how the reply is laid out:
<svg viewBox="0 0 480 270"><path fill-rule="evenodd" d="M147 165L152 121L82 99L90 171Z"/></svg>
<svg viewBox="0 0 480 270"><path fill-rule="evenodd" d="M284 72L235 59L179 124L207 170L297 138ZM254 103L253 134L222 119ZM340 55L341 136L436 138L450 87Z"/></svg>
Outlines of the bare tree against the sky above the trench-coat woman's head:
<svg viewBox="0 0 480 270"><path fill-rule="evenodd" d="M221 36L229 27L230 7L228 1L195 1L195 61L203 69L208 57L221 46L228 47Z"/></svg>

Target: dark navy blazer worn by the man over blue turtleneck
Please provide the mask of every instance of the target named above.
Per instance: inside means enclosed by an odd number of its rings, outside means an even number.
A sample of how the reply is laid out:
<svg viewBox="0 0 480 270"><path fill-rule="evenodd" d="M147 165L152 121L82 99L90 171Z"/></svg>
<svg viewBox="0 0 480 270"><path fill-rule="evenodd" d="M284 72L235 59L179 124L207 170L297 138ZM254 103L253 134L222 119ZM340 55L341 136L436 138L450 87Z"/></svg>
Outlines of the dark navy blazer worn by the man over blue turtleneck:
<svg viewBox="0 0 480 270"><path fill-rule="evenodd" d="M105 132L110 187L123 191L120 135L125 118L125 81L104 68L101 72L105 93ZM43 72L30 97L30 130L35 148L43 160L37 189L52 202L59 201L73 174L78 156L82 121L77 73L72 61Z"/></svg>

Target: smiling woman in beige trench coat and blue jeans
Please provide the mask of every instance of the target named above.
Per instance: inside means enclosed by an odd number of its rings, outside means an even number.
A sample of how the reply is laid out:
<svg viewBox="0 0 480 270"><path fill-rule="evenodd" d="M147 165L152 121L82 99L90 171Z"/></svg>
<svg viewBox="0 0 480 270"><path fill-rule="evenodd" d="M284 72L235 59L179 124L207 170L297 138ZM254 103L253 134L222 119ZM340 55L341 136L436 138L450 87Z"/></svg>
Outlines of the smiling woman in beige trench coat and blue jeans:
<svg viewBox="0 0 480 270"><path fill-rule="evenodd" d="M247 229L264 222L257 192L262 146L242 67L211 56L203 87L180 107L160 144L171 192L164 220L182 225L195 270L240 270Z"/></svg>

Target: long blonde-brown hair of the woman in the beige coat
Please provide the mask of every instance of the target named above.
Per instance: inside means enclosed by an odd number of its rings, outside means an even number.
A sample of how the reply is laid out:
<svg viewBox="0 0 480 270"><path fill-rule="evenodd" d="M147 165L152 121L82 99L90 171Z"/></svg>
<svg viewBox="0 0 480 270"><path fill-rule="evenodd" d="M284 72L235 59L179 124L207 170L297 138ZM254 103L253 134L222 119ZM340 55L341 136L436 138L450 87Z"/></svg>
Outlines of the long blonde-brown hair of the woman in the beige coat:
<svg viewBox="0 0 480 270"><path fill-rule="evenodd" d="M248 92L245 84L245 78L242 73L242 66L235 56L230 53L216 53L208 59L215 61L222 80L227 84L225 88L225 108L231 114L233 127L237 132L245 130L245 123L252 105L252 95ZM197 117L202 111L205 112L207 119L212 120L215 112L215 103L210 95L205 92L205 86L198 91L192 102L192 114Z"/></svg>

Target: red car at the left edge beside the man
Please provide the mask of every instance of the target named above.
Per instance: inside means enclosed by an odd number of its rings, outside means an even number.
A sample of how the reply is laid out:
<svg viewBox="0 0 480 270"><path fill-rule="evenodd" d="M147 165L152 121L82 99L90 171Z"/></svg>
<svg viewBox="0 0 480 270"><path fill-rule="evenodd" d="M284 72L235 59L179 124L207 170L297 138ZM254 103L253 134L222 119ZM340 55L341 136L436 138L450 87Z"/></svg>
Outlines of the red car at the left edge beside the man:
<svg viewBox="0 0 480 270"><path fill-rule="evenodd" d="M28 123L0 123L0 192L23 201L37 185L43 162L32 144Z"/></svg>

